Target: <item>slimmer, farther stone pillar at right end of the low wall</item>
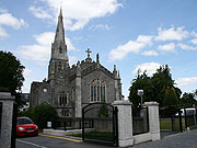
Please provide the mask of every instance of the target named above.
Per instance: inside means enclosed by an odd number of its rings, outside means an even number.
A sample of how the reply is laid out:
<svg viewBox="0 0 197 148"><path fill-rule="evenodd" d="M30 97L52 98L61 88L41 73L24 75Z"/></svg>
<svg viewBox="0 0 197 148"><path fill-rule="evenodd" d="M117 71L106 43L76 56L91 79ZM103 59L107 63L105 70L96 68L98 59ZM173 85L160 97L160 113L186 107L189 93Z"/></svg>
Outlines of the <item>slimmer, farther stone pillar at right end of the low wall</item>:
<svg viewBox="0 0 197 148"><path fill-rule="evenodd" d="M160 139L160 118L159 118L159 103L157 102L144 102L148 106L149 112L149 130L152 140Z"/></svg>

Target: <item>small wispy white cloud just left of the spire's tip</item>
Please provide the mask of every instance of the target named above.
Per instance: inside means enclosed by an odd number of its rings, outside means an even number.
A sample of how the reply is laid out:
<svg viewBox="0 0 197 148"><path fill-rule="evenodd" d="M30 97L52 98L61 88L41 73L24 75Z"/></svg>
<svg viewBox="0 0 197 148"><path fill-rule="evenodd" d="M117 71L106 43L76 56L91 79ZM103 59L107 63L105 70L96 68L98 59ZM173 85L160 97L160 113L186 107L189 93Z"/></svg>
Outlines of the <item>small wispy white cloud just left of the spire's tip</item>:
<svg viewBox="0 0 197 148"><path fill-rule="evenodd" d="M38 7L30 7L30 11L34 13L36 18L39 19L51 19L53 16L48 14L46 11L43 10L43 8Z"/></svg>

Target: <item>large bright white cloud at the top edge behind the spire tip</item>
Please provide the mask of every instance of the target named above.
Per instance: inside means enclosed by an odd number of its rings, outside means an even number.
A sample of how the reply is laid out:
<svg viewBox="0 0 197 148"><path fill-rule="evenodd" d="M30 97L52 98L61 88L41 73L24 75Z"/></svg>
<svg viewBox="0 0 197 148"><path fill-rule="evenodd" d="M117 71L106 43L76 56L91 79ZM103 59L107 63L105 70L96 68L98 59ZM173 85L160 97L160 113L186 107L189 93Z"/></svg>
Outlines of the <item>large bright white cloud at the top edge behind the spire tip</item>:
<svg viewBox="0 0 197 148"><path fill-rule="evenodd" d="M66 30L79 30L89 23L91 19L113 14L121 4L118 0L37 0L46 4L44 8L31 7L31 11L37 18L49 19L53 15L57 20L60 5L65 18ZM42 3L42 4L43 4ZM48 8L48 9L46 9ZM45 15L42 15L45 14Z"/></svg>

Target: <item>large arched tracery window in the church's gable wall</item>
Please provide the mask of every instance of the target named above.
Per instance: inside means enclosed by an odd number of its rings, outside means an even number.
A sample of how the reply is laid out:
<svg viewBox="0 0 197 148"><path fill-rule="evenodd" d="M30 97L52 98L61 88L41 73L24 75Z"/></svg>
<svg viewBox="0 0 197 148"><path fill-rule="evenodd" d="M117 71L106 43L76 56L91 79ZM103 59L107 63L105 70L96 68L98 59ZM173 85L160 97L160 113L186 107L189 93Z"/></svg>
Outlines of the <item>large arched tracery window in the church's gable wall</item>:
<svg viewBox="0 0 197 148"><path fill-rule="evenodd" d="M90 102L107 102L106 101L106 82L99 78L90 84Z"/></svg>

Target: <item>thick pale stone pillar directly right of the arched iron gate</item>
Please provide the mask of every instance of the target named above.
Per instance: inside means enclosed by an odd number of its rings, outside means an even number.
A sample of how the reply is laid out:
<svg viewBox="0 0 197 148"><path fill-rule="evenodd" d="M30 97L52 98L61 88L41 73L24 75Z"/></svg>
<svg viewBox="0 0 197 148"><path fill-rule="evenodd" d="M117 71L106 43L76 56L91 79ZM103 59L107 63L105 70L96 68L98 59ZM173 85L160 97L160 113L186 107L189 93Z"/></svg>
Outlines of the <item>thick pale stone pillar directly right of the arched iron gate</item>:
<svg viewBox="0 0 197 148"><path fill-rule="evenodd" d="M128 101L115 101L118 109L118 144L119 147L134 145L131 103Z"/></svg>

